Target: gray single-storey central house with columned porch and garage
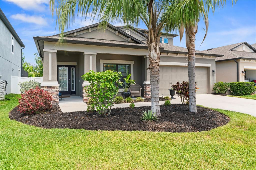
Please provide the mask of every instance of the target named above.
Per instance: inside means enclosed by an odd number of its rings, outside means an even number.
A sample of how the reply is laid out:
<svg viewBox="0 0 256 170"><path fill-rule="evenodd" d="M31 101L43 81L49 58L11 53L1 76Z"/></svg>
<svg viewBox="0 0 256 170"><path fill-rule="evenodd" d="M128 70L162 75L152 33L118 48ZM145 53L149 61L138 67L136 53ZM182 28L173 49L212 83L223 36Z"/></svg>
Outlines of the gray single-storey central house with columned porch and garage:
<svg viewBox="0 0 256 170"><path fill-rule="evenodd" d="M43 59L44 72L41 86L50 91L84 97L83 87L88 86L81 76L89 70L114 70L123 77L132 74L142 87L141 95L150 98L150 72L146 45L147 30L131 26L108 24L105 32L98 30L98 23L65 33L64 43L59 35L33 37ZM161 36L160 96L169 95L172 84L188 81L187 48L173 46L178 35L163 33ZM212 92L216 77L215 58L223 55L196 51L197 94ZM54 88L52 88L54 87ZM120 89L120 92L122 89ZM57 92L55 92L56 94ZM57 98L55 100L58 102Z"/></svg>

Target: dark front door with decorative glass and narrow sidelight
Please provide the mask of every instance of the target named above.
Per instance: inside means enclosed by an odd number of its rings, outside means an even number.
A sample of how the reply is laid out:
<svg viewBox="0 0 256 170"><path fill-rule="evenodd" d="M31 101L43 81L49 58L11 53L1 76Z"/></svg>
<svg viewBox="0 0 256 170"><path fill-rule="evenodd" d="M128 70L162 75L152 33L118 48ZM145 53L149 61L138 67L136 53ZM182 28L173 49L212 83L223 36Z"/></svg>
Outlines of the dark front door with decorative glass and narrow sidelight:
<svg viewBox="0 0 256 170"><path fill-rule="evenodd" d="M75 66L57 65L57 76L62 94L76 94Z"/></svg>

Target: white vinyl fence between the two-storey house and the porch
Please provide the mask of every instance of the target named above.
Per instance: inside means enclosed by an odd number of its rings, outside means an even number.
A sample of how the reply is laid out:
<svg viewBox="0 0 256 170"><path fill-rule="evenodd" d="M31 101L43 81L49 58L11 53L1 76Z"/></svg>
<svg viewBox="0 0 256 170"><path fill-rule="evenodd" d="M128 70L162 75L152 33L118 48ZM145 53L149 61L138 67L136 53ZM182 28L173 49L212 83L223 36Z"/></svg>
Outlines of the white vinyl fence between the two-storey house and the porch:
<svg viewBox="0 0 256 170"><path fill-rule="evenodd" d="M20 94L20 86L18 85L20 82L29 81L29 80L35 80L39 83L42 83L43 77L18 77L18 76L12 76L12 87L11 91L15 94Z"/></svg>

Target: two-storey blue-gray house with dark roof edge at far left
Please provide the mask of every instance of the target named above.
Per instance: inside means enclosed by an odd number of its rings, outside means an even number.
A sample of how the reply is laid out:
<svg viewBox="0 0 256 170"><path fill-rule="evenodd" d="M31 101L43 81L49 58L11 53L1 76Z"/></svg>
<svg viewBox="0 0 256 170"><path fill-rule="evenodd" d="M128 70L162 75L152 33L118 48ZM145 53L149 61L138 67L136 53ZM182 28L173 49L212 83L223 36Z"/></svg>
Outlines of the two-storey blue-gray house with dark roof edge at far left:
<svg viewBox="0 0 256 170"><path fill-rule="evenodd" d="M11 93L11 77L24 76L22 72L26 74L22 70L22 49L25 45L1 9L0 18L0 80L7 81L5 93Z"/></svg>

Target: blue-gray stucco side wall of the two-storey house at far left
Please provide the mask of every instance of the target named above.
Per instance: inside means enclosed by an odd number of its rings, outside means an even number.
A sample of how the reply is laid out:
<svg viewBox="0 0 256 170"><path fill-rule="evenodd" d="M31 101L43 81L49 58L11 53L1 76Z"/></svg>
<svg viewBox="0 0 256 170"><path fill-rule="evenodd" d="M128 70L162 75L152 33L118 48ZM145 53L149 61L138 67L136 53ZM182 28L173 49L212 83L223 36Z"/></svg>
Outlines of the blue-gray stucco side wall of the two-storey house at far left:
<svg viewBox="0 0 256 170"><path fill-rule="evenodd" d="M7 80L5 93L11 93L11 76L21 76L21 46L14 38L14 54L12 53L11 32L0 22L0 80ZM20 69L20 71L18 71Z"/></svg>

